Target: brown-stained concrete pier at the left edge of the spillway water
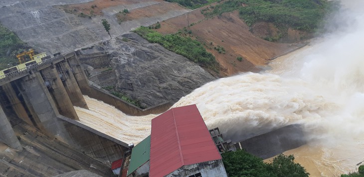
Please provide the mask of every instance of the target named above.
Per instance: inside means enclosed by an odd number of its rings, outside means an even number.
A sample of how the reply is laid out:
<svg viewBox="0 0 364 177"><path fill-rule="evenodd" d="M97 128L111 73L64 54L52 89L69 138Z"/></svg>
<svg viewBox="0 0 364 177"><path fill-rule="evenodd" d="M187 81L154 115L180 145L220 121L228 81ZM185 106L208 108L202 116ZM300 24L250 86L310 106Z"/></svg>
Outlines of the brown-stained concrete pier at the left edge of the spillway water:
<svg viewBox="0 0 364 177"><path fill-rule="evenodd" d="M73 120L79 120L55 66L51 65L42 69L40 72L43 79L50 84L47 89L58 108L59 114Z"/></svg>

